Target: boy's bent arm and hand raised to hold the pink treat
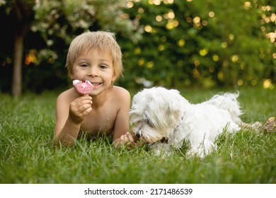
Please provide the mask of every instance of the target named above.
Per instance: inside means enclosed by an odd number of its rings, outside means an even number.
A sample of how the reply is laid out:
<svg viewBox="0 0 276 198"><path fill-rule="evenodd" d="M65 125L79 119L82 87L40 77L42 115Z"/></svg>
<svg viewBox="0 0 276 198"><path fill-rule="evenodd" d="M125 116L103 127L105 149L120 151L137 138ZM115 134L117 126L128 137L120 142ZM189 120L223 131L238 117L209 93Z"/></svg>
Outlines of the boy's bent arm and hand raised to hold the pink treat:
<svg viewBox="0 0 276 198"><path fill-rule="evenodd" d="M56 125L54 127L54 144L63 146L74 145L79 134L81 122L92 110L91 97L82 96L70 102L69 95L62 93L57 98Z"/></svg>

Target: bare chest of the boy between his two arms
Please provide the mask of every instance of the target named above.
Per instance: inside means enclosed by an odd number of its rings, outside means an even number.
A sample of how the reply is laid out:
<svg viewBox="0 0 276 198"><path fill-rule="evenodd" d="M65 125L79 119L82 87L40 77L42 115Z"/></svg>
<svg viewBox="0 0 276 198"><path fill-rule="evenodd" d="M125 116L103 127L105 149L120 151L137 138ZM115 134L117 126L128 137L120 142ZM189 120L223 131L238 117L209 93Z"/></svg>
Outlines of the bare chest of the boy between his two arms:
<svg viewBox="0 0 276 198"><path fill-rule="evenodd" d="M117 111L114 109L100 108L92 110L81 124L81 130L88 134L106 133L109 135L113 132Z"/></svg>

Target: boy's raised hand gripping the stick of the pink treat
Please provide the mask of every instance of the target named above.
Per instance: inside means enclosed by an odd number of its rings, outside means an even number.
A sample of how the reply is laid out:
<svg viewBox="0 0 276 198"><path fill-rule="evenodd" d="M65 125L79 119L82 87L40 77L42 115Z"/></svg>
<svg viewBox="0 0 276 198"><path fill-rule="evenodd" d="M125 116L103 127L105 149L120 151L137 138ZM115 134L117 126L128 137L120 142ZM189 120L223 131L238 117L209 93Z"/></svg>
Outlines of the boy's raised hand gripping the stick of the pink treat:
<svg viewBox="0 0 276 198"><path fill-rule="evenodd" d="M76 124L80 124L84 120L84 117L91 112L92 103L92 98L89 95L76 98L76 100L70 104L69 119Z"/></svg>

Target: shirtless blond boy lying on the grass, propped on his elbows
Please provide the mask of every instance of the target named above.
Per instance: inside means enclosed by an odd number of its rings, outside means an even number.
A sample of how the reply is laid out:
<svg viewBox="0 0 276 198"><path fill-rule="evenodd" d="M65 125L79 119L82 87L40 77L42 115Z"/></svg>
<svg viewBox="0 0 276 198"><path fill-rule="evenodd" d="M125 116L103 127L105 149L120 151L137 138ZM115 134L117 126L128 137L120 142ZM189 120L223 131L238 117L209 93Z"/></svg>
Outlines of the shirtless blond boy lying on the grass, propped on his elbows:
<svg viewBox="0 0 276 198"><path fill-rule="evenodd" d="M66 62L71 80L90 81L94 88L81 95L69 88L57 98L54 142L75 144L79 132L88 137L113 134L113 143L133 141L129 131L130 93L113 86L122 76L122 52L113 33L97 31L77 36Z"/></svg>

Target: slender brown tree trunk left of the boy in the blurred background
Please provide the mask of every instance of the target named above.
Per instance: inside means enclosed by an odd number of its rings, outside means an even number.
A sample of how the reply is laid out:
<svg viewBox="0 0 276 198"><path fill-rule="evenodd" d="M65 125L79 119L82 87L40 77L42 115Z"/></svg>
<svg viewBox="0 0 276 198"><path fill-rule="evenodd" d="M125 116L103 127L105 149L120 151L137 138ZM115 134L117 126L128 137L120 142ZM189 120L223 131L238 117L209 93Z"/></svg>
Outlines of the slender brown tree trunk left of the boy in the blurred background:
<svg viewBox="0 0 276 198"><path fill-rule="evenodd" d="M23 31L18 31L14 38L13 81L11 85L11 93L13 97L16 98L18 98L22 93L23 38Z"/></svg>

